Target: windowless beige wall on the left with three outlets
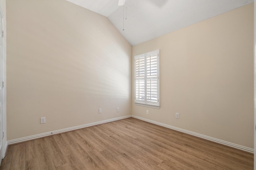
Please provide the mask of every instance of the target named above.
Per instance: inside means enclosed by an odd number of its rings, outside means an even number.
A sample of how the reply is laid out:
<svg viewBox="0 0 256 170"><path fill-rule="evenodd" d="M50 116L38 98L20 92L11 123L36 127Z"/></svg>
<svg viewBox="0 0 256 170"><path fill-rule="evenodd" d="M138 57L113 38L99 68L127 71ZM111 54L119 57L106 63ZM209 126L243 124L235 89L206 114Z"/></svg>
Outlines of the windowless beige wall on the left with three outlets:
<svg viewBox="0 0 256 170"><path fill-rule="evenodd" d="M6 10L7 140L131 114L132 47L108 18L66 0Z"/></svg>

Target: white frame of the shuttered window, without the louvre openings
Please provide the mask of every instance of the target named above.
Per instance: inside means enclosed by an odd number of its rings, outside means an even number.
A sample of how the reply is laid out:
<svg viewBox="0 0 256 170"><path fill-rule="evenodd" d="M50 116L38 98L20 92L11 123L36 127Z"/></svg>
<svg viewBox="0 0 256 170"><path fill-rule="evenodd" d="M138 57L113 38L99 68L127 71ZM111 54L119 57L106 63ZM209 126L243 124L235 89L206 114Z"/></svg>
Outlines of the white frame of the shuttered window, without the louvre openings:
<svg viewBox="0 0 256 170"><path fill-rule="evenodd" d="M147 75L147 57L155 56L156 55L156 96L157 101L156 102L150 102L147 100L147 80L150 80L151 78L148 78ZM136 59L142 59L144 58L144 78L143 76L136 76ZM143 59L142 59L143 60ZM152 64L150 64L152 66ZM140 67L140 65L139 65ZM142 69L143 71L143 69ZM138 72L137 72L138 73ZM144 100L141 98L136 98L136 81L143 81L144 80ZM143 86L142 86L143 87ZM152 88L150 88L150 92L152 91ZM140 91L139 91L140 94ZM151 96L150 96L151 97ZM150 100L150 99L149 99ZM138 106L145 106L145 107L153 107L160 109L160 50L150 51L148 53L140 54L134 56L134 103Z"/></svg>

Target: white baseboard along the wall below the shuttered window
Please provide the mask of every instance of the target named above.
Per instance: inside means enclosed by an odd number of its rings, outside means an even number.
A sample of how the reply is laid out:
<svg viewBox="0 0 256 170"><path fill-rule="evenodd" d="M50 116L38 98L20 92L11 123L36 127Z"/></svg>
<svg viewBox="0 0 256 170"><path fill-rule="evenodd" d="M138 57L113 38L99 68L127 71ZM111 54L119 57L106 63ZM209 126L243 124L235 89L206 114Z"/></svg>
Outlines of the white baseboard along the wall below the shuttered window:
<svg viewBox="0 0 256 170"><path fill-rule="evenodd" d="M184 130L184 129L180 129L180 128L178 128L178 127L166 125L166 124L163 124L163 123L159 123L159 122L156 122L156 121L152 121L152 120L149 120L149 119L145 119L145 118L142 118L142 117L138 117L138 116L135 116L135 115L132 115L132 117L134 117L134 118L136 118L136 119L143 120L143 121L147 121L147 122L150 122L150 123L154 123L154 124L156 124L156 125L160 125L160 126L163 126L163 127L167 127L167 128L169 128L169 129L173 129L173 130L175 130L175 131L180 131L180 132L182 132L182 133L186 133L186 134L189 134L189 135L193 135L193 136L196 136L196 137L200 137L200 138L206 139L206 140L208 140L208 141L220 143L220 144L226 145L226 146L228 146L228 147L232 147L232 148L244 150L244 151L246 151L246 152L254 153L254 149L252 149L252 148L244 147L244 146L237 145L237 144L234 144L234 143L230 143L230 142L227 142L227 141L222 141L222 140L220 140L220 139L216 139L216 138L213 138L213 137L208 137L208 136L206 136L206 135L201 135L201 134L199 134L199 133L194 133L194 132L191 132L191 131L187 131L187 130Z"/></svg>

